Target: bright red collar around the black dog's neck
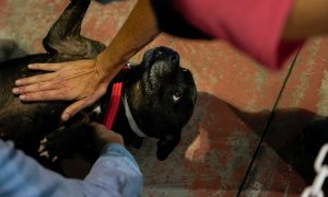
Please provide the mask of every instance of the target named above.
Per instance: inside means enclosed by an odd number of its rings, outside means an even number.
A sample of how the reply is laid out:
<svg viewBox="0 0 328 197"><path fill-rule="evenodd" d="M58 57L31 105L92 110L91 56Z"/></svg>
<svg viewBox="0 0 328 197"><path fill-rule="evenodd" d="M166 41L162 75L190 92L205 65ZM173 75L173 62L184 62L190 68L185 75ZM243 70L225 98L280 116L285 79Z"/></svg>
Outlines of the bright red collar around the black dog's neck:
<svg viewBox="0 0 328 197"><path fill-rule="evenodd" d="M127 63L124 66L122 71L126 71L130 68L130 65ZM105 118L103 124L107 129L112 129L113 123L115 120L117 109L120 103L120 97L121 97L121 92L122 92L122 82L116 82L114 83L112 88L112 95L108 100L108 106L106 109Z"/></svg>

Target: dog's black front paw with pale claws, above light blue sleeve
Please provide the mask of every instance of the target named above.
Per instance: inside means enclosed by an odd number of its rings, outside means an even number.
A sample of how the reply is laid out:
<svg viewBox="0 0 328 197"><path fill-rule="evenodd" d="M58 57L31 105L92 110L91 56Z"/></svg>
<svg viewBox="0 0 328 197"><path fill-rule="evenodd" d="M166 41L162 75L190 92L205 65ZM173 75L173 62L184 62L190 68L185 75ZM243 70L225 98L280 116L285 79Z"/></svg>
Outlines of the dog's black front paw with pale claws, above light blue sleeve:
<svg viewBox="0 0 328 197"><path fill-rule="evenodd" d="M65 127L60 127L46 136L42 141L38 149L39 155L45 157L52 162L71 158L72 141L70 140L70 134Z"/></svg>

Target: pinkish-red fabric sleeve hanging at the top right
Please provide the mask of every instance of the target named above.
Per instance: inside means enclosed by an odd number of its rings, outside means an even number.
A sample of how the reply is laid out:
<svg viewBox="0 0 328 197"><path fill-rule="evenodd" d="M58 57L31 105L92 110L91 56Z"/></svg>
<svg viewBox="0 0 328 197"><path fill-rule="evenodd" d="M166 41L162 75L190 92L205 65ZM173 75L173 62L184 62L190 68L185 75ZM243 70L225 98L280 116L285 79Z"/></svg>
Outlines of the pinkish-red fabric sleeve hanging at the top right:
<svg viewBox="0 0 328 197"><path fill-rule="evenodd" d="M280 40L293 0L174 0L173 7L204 33L226 39L278 69L303 40Z"/></svg>

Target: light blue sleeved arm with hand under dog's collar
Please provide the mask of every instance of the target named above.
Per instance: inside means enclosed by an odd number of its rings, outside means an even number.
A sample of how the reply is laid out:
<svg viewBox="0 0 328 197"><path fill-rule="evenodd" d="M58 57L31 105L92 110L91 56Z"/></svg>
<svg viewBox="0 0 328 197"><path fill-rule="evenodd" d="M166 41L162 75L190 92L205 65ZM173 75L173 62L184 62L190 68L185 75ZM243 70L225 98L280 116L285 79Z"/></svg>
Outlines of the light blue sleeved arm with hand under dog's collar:
<svg viewBox="0 0 328 197"><path fill-rule="evenodd" d="M84 181L46 170L12 142L0 140L0 196L139 196L142 175L121 137L103 126L95 128L104 147Z"/></svg>

